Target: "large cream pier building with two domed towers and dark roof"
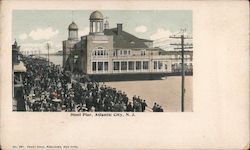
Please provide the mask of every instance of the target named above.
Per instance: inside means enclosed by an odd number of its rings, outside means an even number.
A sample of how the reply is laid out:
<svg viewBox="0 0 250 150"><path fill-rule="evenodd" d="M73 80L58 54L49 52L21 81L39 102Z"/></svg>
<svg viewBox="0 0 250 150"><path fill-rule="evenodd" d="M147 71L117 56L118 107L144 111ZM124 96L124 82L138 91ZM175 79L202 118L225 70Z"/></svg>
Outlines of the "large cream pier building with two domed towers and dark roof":
<svg viewBox="0 0 250 150"><path fill-rule="evenodd" d="M72 23L73 24L73 23ZM153 41L138 38L123 30L122 24L109 29L101 12L89 17L90 32L76 37L78 28L70 24L69 38L63 41L63 67L65 70L90 76L144 75L164 76L171 72L172 61L168 53L153 47ZM73 30L74 29L74 30ZM73 33L72 33L73 32ZM73 35L73 38L72 38Z"/></svg>

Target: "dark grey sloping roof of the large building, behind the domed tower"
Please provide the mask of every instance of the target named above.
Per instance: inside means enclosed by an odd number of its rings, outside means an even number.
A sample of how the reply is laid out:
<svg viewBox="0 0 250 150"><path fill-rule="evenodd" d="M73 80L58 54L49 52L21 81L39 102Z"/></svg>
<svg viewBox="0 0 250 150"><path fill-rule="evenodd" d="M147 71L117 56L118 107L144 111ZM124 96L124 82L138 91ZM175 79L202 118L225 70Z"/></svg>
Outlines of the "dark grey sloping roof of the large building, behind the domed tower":
<svg viewBox="0 0 250 150"><path fill-rule="evenodd" d="M148 48L144 42L152 42L151 40L140 39L125 31L117 34L117 28L105 29L104 34L113 35L114 48Z"/></svg>

